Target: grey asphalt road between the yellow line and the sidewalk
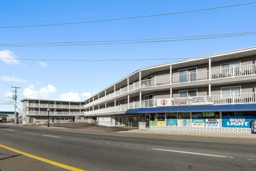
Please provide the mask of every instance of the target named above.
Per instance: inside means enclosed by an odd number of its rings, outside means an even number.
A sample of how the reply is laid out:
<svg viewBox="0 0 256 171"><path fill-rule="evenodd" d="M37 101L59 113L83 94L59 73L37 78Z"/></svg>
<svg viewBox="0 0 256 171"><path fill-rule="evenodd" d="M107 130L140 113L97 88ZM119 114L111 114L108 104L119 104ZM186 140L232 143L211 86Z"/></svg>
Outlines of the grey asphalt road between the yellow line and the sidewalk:
<svg viewBox="0 0 256 171"><path fill-rule="evenodd" d="M177 140L169 136L172 140L168 140L124 135L0 124L0 144L86 170L256 170L254 140L218 143L219 139L207 142L201 138L187 141L189 138L182 136Z"/></svg>

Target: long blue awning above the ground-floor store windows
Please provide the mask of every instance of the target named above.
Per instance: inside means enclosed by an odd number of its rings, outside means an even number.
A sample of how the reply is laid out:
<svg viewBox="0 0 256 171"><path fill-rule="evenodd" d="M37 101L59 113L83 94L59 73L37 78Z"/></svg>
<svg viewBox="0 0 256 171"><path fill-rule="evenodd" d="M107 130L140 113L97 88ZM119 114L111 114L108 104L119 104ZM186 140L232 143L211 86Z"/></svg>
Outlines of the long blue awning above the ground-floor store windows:
<svg viewBox="0 0 256 171"><path fill-rule="evenodd" d="M239 112L256 111L256 104L170 106L157 108L129 109L125 113L171 113L171 112Z"/></svg>

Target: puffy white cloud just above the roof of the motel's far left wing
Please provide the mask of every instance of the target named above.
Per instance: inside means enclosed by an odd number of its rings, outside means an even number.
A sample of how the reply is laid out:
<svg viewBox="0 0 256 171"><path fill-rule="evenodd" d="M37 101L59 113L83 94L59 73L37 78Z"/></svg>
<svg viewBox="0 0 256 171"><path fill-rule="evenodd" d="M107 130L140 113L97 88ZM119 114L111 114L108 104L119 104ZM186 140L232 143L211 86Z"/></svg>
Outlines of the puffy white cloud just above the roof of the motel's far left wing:
<svg viewBox="0 0 256 171"><path fill-rule="evenodd" d="M56 92L56 88L51 84L48 84L47 87L42 87L39 90L36 90L33 84L30 84L26 89L23 90L23 95L26 98L31 99L47 99L51 93Z"/></svg>

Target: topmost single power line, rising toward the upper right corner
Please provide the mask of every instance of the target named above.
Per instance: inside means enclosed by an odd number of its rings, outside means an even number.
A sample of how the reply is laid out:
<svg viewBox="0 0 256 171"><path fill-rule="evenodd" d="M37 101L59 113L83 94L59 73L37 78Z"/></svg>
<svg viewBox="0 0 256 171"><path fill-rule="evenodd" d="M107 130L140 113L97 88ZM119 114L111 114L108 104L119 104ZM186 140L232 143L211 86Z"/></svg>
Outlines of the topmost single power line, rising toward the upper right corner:
<svg viewBox="0 0 256 171"><path fill-rule="evenodd" d="M126 18L112 18L112 19L101 19L101 20L93 20L93 21L85 21L85 22L70 22L70 23L55 23L55 24L40 24L40 25L22 25L22 26L2 26L0 28L21 28L21 27L42 27L42 26L56 26L56 25L73 25L73 24L86 24L86 23L99 23L99 22L110 22L115 20L126 20L126 19L137 19L137 18L146 18L146 17L157 17L157 16L167 16L167 15L176 15L176 14L185 14L185 13L194 13L201 12L207 10L221 9L221 8L230 8L230 7L238 7L245 5L252 5L256 2L244 3L244 4L236 4L236 5L228 5L228 6L219 6L213 8L204 8L204 9L196 9L196 10L187 10L184 12L176 12L176 13L165 13L165 14L155 14L155 15L145 15L145 16L136 16L136 17L126 17Z"/></svg>

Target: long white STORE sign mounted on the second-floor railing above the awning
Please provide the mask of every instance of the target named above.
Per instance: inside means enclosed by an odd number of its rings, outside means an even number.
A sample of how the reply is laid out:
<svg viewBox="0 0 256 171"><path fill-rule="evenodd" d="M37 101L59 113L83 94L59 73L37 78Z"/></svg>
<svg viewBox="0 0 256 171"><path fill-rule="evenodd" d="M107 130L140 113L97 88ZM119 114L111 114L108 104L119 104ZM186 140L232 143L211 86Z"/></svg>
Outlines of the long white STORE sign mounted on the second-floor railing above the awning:
<svg viewBox="0 0 256 171"><path fill-rule="evenodd" d="M212 96L157 99L157 106L186 106L186 105L211 105L214 104Z"/></svg>

